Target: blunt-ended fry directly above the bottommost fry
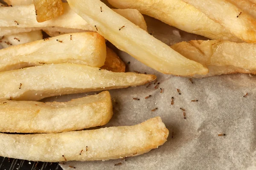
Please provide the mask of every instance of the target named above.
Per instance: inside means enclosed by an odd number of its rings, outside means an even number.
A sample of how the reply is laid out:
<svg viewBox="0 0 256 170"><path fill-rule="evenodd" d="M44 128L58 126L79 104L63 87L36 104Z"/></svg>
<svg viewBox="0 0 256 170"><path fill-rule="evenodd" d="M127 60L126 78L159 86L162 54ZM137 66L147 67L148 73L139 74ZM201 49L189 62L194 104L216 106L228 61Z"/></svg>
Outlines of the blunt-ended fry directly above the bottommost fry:
<svg viewBox="0 0 256 170"><path fill-rule="evenodd" d="M58 133L105 125L113 115L108 91L69 102L0 99L0 132Z"/></svg>

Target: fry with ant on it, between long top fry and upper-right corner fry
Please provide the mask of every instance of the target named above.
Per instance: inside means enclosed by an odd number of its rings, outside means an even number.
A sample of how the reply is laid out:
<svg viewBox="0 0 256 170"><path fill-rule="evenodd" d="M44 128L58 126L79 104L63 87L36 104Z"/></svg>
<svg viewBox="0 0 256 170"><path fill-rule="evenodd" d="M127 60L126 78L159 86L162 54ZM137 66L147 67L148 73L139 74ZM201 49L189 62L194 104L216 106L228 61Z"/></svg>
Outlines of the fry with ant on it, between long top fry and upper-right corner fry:
<svg viewBox="0 0 256 170"><path fill-rule="evenodd" d="M245 42L256 42L256 20L227 0L183 0Z"/></svg>

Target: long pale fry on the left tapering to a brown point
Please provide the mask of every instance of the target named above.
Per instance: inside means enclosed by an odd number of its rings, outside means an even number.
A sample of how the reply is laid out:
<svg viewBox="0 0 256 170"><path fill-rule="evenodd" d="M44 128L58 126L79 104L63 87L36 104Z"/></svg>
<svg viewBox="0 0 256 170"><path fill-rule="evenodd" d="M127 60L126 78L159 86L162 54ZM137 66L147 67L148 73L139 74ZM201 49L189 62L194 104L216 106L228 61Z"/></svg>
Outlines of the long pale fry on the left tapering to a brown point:
<svg viewBox="0 0 256 170"><path fill-rule="evenodd" d="M0 99L38 101L50 96L135 87L155 79L154 75L115 73L87 65L43 65L0 72Z"/></svg>

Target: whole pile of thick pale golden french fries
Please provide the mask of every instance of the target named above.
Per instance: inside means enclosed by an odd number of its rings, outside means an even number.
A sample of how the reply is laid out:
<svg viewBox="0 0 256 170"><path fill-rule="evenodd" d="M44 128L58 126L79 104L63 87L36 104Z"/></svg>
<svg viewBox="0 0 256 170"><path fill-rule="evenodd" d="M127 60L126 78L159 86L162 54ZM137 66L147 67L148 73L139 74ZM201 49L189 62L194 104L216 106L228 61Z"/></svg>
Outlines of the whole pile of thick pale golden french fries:
<svg viewBox="0 0 256 170"><path fill-rule="evenodd" d="M0 156L31 161L93 161L137 156L166 142L160 117L106 125L110 89L145 85L126 73L106 40L140 62L183 77L256 74L253 0L6 0L0 7ZM171 47L148 34L142 14L212 40ZM42 31L49 37L43 39ZM69 102L51 96L103 91ZM75 131L79 130L79 131ZM8 133L31 133L26 135ZM33 134L42 133L42 134Z"/></svg>

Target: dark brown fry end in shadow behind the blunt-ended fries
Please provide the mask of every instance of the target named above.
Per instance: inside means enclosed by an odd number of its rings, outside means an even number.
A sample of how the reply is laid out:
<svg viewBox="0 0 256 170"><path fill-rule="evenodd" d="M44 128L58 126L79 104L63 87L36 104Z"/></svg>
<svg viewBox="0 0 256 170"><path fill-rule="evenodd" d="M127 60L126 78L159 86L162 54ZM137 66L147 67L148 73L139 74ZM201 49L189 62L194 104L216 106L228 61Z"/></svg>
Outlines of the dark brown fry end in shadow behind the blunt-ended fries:
<svg viewBox="0 0 256 170"><path fill-rule="evenodd" d="M111 48L107 47L105 65L103 65L101 68L113 72L125 72L125 63Z"/></svg>

